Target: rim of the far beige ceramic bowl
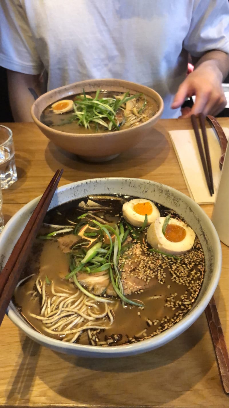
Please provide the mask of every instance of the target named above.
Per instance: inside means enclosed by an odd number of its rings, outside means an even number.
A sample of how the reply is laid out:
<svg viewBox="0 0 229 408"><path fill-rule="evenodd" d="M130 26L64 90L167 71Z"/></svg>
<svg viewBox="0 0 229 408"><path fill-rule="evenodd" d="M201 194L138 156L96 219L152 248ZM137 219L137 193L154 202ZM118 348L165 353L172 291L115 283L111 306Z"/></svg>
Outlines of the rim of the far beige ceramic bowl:
<svg viewBox="0 0 229 408"><path fill-rule="evenodd" d="M146 85L142 85L142 84L137 84L136 82L130 82L130 81L126 81L126 80L119 80L118 78L101 78L101 79L91 79L91 80L84 80L84 81L79 81L79 82L73 82L72 84L68 84L68 85L63 85L63 86L59 86L59 88L55 88L55 89L52 89L52 90L50 90L50 91L48 91L48 92L46 92L46 93L43 93L43 95L41 95L41 96L39 96L39 98L37 98L34 102L33 102L33 105L32 105L32 107L31 107L31 116L32 116L32 118L33 118L33 121L37 124L37 126L39 126L40 128L42 128L42 129L44 129L44 130L48 130L48 131L50 131L50 132L54 132L55 134L57 134L57 135L59 135L59 136L61 136L61 135L63 135L63 136L70 136L70 137L101 137L101 136L103 136L103 137L105 137L105 135L106 136L110 136L111 137L111 135L114 135L114 133L117 133L117 132L114 132L114 131L112 131L112 132L103 132L103 133L68 133L68 132L63 132L63 131L59 131L59 130L57 130L57 129L52 129L52 128L50 128L49 126L47 126L47 125L45 125L44 123L42 123L38 118L37 118L37 116L35 115L35 107L36 107L36 105L41 101L41 100L43 100L43 99L45 99L46 98L46 96L47 95L52 95L52 93L54 93L55 91L61 91L62 89L66 89L66 90L68 90L69 88L71 88L72 86L74 86L74 85L77 85L77 84L79 84L79 85L83 85L83 84L88 84L90 81L114 81L114 82L121 82L121 83L123 83L123 85L127 85L127 84L130 84L130 86L132 85L132 86L134 86L134 85L138 85L138 86L142 86L142 87L144 87L144 89L146 89L146 90L150 90L150 91L153 91L153 93L155 93L155 94L157 94L157 98L160 100L160 104L161 104L161 106L159 107L159 109L158 109L158 111L155 113L155 115L152 117L152 118L150 118L150 119L148 119L148 120L146 120L146 122L143 122L143 123L141 123L141 124L139 124L139 125L137 125L137 126L134 126L133 128L128 128L128 129L121 129L120 131L118 131L118 134L120 134L120 135L122 135L122 134L124 134L124 133L126 133L127 131L130 131L130 130L132 130L132 129L140 129L140 128L142 128L142 126L146 126L146 124L149 124L151 121L155 121L155 119L156 118L160 118L160 116L162 115L162 113L163 113L163 110L164 110L164 102L163 102L163 99L161 98L161 95L159 95L159 93L157 92L157 91L155 91L153 88L150 88L149 86L146 86ZM107 85L107 86L109 86L109 85ZM72 94L73 95L73 94ZM67 95L66 95L67 96ZM63 97L63 98L65 98L65 97ZM153 98L153 95L152 95L152 98ZM55 103L55 102L53 102L53 103ZM47 106L46 106L47 107Z"/></svg>

